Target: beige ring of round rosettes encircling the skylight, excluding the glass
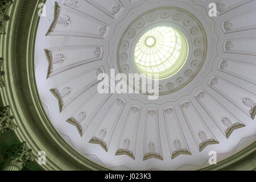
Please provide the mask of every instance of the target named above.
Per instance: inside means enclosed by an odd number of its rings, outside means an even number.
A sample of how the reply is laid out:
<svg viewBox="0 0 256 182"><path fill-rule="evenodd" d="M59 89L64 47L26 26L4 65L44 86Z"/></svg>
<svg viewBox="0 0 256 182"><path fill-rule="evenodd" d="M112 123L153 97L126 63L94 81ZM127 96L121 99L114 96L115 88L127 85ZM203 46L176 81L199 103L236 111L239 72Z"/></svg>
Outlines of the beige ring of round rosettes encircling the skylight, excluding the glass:
<svg viewBox="0 0 256 182"><path fill-rule="evenodd" d="M155 18L153 18L152 14L154 14ZM148 20L148 17L151 17L151 19ZM121 36L117 49L117 65L120 73L125 73L126 75L128 73L140 73L134 61L135 46L145 32L158 26L169 26L182 32L188 40L189 47L188 59L183 68L175 76L159 80L159 85L162 86L162 89L159 90L159 95L161 96L183 88L199 73L207 55L207 35L200 21L187 10L179 7L159 7L149 10L134 19ZM133 35L131 36L132 33ZM129 46L127 46L128 44ZM123 55L127 55L125 61L121 59ZM192 64L193 61L195 63L195 60L198 64ZM127 69L127 66L129 69ZM184 75L184 72L188 71L190 74ZM167 86L170 83L173 84L172 88ZM136 90L139 89L137 88Z"/></svg>

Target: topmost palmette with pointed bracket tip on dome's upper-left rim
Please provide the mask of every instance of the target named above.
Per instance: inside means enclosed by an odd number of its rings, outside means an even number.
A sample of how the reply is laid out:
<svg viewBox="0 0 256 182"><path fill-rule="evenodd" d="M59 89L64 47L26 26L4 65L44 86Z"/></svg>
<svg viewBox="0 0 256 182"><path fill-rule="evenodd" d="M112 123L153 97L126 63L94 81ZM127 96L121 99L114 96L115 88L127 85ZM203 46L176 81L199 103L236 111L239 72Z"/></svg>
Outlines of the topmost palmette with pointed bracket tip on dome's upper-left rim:
<svg viewBox="0 0 256 182"><path fill-rule="evenodd" d="M69 16L65 14L60 14L60 6L57 2L55 2L55 10L54 10L54 18L51 26L49 27L48 32L52 32L54 28L57 26L67 27L70 23Z"/></svg>

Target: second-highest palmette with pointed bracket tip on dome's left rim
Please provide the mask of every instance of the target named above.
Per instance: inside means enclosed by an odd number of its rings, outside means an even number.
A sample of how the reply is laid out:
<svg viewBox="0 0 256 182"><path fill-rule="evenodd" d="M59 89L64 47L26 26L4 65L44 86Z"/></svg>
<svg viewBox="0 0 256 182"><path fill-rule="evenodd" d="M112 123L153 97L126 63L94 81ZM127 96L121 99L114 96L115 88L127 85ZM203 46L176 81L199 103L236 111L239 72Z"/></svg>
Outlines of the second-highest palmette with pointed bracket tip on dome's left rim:
<svg viewBox="0 0 256 182"><path fill-rule="evenodd" d="M52 55L51 51L48 51L47 49L44 49L44 52L46 53L47 61L48 61L48 71L47 71L47 78L51 73L53 72L53 68L57 67L64 61L64 55L62 53Z"/></svg>

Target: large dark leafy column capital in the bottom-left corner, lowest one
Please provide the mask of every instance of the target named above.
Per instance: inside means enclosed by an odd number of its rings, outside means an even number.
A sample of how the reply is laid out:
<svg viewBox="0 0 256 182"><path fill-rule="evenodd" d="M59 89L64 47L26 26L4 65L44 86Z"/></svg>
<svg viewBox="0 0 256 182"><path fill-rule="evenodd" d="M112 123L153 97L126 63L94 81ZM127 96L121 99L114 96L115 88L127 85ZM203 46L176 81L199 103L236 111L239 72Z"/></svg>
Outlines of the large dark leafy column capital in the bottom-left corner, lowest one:
<svg viewBox="0 0 256 182"><path fill-rule="evenodd" d="M6 150L5 155L7 156L7 162L5 168L8 166L18 167L19 170L32 161L34 156L32 155L32 149L27 147L27 143L20 143L10 150Z"/></svg>

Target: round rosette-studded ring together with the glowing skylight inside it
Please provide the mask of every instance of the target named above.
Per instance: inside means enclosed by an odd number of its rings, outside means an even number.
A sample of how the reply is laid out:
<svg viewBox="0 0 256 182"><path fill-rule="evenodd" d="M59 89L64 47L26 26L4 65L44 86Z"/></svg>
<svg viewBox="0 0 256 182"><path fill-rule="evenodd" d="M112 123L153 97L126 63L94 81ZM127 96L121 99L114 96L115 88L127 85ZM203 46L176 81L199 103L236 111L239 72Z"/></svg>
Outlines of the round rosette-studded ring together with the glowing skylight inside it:
<svg viewBox="0 0 256 182"><path fill-rule="evenodd" d="M170 14L172 14L171 17ZM164 59L162 59L157 53L159 49L163 49L161 41L166 41L166 37L162 36L159 31L156 31L158 33L152 33L152 31L151 34L148 33L150 30L157 30L158 27L172 28L176 32L176 40L178 40L178 34L180 42L187 41L187 43L180 47L180 50L172 46L172 43L167 44L167 47L164 45L166 52L163 53L162 58L164 57ZM170 38L170 42L175 42L175 39ZM175 50L177 51L176 58L173 59L172 65L167 65L167 61L170 60ZM127 55L127 59L123 55L124 53ZM149 60L150 57L156 56L157 58L147 62L143 60L142 55L147 56ZM179 57L179 55L184 57ZM196 16L178 7L159 7L137 16L123 30L117 47L117 68L120 73L142 73L144 78L158 78L160 85L166 85L159 90L161 96L176 92L192 81L203 66L206 55L207 36ZM184 74L186 71L189 72ZM158 77L149 74L153 72L159 73ZM170 85L169 83L176 84ZM129 81L127 84L130 85ZM140 88L135 89L141 90Z"/></svg>

